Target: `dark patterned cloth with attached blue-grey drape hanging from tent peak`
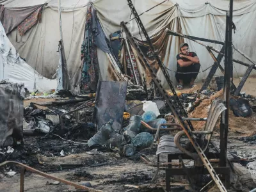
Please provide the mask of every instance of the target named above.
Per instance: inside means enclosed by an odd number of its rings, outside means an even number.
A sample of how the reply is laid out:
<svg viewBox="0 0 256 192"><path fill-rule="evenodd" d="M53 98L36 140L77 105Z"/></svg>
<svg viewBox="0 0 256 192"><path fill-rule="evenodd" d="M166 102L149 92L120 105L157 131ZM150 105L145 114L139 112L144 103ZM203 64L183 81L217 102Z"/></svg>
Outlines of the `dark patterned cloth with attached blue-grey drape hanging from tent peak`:
<svg viewBox="0 0 256 192"><path fill-rule="evenodd" d="M97 48L106 54L112 54L113 60L118 67L122 67L118 56L115 56L111 44L106 37L102 26L97 17L97 11L93 9L93 4L88 3L86 13L86 24L84 32L84 41L81 45L82 74L81 74L81 92L95 91L99 81L99 61Z"/></svg>

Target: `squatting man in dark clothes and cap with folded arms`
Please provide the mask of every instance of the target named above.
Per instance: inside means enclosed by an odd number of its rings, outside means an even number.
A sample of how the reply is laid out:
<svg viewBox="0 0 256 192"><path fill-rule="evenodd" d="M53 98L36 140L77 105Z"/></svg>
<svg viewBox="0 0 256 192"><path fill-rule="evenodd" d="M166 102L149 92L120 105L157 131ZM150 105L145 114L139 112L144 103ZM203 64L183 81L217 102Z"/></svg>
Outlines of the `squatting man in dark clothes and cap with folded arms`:
<svg viewBox="0 0 256 192"><path fill-rule="evenodd" d="M194 81L200 69L200 61L195 52L189 52L188 44L180 44L180 54L177 54L177 72L175 77L178 81L177 89L182 90L184 84L189 88L195 86Z"/></svg>

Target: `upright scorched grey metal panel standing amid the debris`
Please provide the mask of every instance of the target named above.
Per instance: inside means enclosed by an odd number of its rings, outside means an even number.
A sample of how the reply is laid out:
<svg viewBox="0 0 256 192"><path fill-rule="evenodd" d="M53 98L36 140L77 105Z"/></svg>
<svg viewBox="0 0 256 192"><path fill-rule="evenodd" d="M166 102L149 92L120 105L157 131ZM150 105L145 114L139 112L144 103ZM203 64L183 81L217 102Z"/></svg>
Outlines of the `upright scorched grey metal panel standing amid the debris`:
<svg viewBox="0 0 256 192"><path fill-rule="evenodd" d="M127 82L100 81L97 88L93 118L97 130L113 120L113 129L122 128Z"/></svg>

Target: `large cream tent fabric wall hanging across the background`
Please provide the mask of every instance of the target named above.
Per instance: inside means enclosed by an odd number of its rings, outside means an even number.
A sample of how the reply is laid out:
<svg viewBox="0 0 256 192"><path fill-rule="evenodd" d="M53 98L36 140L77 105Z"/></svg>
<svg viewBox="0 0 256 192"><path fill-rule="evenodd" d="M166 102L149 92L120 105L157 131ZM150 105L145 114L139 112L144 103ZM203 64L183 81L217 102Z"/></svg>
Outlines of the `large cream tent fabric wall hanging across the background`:
<svg viewBox="0 0 256 192"><path fill-rule="evenodd" d="M137 12L143 13L149 8L156 6L163 0L140 0L132 1ZM6 8L33 6L35 4L44 4L45 10L42 13L42 22L38 23L28 33L22 37L17 31L12 31L9 36L13 45L20 52L23 58L26 58L29 65L35 68L45 77L52 77L58 68L58 40L59 17L58 17L58 0L33 1L33 0L7 0L2 1ZM1 1L0 1L1 3ZM62 19L63 19L63 40L65 44L65 54L67 56L68 72L72 82L77 84L81 71L80 45L83 40L84 22L86 15L86 4L88 0L61 0ZM120 22L128 21L133 17L126 0L95 0L94 7L98 12L100 23L107 36L110 33L120 30ZM180 20L182 33L186 35L200 36L212 40L224 41L225 36L225 15L228 10L229 1L227 0L169 0L156 6L156 8L145 12L141 15L141 20L150 36L154 36L164 30L168 24L172 24L173 31L177 31L177 20ZM236 33L233 35L234 45L256 61L256 55L253 47L256 41L254 32L254 22L256 20L256 1L255 0L236 0L234 1L234 24L236 24ZM74 27L73 27L74 25ZM136 20L127 24L132 35L141 39L141 30L138 29ZM144 38L143 38L144 39ZM195 51L201 61L201 71L210 67L213 60L205 47L195 44L189 40L191 51ZM176 69L176 55L179 54L180 39L175 36L168 36L168 45L164 54L164 65L171 70ZM220 45L209 44L216 49L221 49ZM109 62L111 57L102 51L98 51L100 77L103 80L113 79ZM234 52L234 58L250 63L239 53ZM223 63L222 63L223 65ZM246 67L234 64L234 76L243 76ZM113 72L113 71L112 71ZM206 77L209 70L198 75L198 80ZM218 74L221 74L218 71ZM252 74L256 74L254 71ZM163 80L161 71L158 76ZM170 76L175 82L174 72L170 71ZM163 81L162 81L163 82ZM164 83L164 82L163 82ZM166 83L164 83L166 84Z"/></svg>

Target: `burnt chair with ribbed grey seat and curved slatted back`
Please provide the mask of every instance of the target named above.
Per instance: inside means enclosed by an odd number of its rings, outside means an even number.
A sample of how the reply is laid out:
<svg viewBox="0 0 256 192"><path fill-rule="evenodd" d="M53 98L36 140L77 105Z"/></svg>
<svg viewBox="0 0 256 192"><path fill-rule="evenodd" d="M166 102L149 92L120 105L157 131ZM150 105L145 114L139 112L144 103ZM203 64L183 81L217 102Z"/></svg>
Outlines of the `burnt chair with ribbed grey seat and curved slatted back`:
<svg viewBox="0 0 256 192"><path fill-rule="evenodd" d="M212 154L211 152L209 152L209 143L211 141L212 133L214 127L216 126L216 122L218 121L220 114L225 111L225 109L226 108L221 100L215 99L212 102L207 122L204 127L204 131L193 131L193 134L198 135L198 138L200 138L200 141L198 141L198 143L200 143L201 148L208 159L216 159L216 157L218 156L218 154L216 153ZM193 118L189 119L193 120ZM158 127L157 132L159 132L160 127L161 126ZM157 172L159 171L160 154L168 154L168 168L166 168L166 191L170 191L170 177L172 177L173 175L189 175L191 179L193 178L193 175L209 174L207 169L204 168L204 164L202 163L198 154L192 153L184 148L184 144L182 144L183 140L181 140L181 137L184 136L184 134L184 131L179 131L174 138L173 136L169 135L162 136L159 140L159 145L157 146ZM180 163L182 163L182 159L193 159L195 167L173 168L172 161L175 159L179 159ZM229 188L229 167L218 167L214 168L214 170L216 174L225 175L226 188Z"/></svg>

